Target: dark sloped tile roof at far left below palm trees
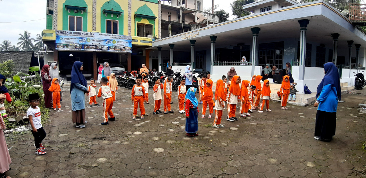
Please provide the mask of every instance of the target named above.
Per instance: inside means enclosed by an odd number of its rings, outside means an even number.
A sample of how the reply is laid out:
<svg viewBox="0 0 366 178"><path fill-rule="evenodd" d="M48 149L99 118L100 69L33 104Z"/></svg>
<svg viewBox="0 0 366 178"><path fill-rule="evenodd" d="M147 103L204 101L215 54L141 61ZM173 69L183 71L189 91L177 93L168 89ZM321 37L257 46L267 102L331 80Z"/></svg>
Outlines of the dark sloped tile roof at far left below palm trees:
<svg viewBox="0 0 366 178"><path fill-rule="evenodd" d="M30 62L34 58L33 51L2 51L0 52L0 63L13 60L14 74L17 72L28 73Z"/></svg>

